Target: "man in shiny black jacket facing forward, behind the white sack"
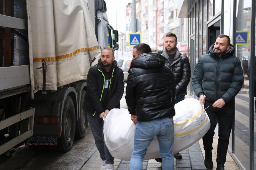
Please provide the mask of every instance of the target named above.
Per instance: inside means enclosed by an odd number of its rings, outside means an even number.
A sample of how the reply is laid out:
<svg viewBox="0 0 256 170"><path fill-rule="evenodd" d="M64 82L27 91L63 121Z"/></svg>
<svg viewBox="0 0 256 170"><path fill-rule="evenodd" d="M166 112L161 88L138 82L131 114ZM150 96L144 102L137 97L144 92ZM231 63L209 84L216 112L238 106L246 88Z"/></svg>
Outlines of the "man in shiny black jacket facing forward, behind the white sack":
<svg viewBox="0 0 256 170"><path fill-rule="evenodd" d="M188 57L181 54L176 48L177 37L173 33L167 33L165 35L165 49L162 56L166 58L166 65L170 67L174 75L175 84L175 103L185 99L187 95L187 85L190 81L191 71ZM176 159L182 159L180 153L174 154Z"/></svg>

